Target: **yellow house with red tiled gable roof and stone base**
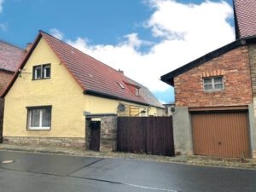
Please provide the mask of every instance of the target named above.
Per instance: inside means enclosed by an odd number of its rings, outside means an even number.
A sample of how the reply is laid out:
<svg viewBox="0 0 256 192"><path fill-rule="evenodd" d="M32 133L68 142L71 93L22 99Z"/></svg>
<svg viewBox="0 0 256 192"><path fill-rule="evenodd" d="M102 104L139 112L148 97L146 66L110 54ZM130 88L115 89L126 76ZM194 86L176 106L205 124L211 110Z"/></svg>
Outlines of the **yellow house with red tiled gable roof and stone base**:
<svg viewBox="0 0 256 192"><path fill-rule="evenodd" d="M84 146L86 114L165 113L142 84L42 31L2 97L6 143Z"/></svg>

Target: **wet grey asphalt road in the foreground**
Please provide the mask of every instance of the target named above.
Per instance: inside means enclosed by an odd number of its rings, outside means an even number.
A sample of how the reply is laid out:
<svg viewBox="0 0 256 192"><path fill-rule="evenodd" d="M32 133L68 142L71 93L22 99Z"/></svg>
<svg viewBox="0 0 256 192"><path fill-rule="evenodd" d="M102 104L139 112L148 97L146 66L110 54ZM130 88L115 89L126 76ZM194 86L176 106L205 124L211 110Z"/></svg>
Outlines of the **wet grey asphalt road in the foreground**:
<svg viewBox="0 0 256 192"><path fill-rule="evenodd" d="M27 191L255 192L256 171L0 151L0 192Z"/></svg>

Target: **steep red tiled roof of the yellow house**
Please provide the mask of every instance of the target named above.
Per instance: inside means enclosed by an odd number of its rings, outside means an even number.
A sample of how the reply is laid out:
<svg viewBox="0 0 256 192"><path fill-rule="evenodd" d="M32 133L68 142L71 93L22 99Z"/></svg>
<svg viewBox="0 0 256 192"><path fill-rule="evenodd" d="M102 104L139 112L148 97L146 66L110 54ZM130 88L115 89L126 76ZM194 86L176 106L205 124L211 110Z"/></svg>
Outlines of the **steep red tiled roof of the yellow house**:
<svg viewBox="0 0 256 192"><path fill-rule="evenodd" d="M53 49L55 54L61 60L61 63L67 67L67 70L79 83L85 94L152 105L144 99L143 96L136 96L135 93L131 92L127 84L125 84L129 82L132 84L131 79L127 78L123 73L96 60L90 55L84 54L79 49L73 48L71 45L62 42L46 32L39 32L38 38L36 38L32 48L27 53L26 58L20 64L20 68L25 66L26 61L41 38L44 38L49 44L49 47ZM3 92L2 97L7 94L12 84L15 83L17 77L18 72L15 73L15 78Z"/></svg>

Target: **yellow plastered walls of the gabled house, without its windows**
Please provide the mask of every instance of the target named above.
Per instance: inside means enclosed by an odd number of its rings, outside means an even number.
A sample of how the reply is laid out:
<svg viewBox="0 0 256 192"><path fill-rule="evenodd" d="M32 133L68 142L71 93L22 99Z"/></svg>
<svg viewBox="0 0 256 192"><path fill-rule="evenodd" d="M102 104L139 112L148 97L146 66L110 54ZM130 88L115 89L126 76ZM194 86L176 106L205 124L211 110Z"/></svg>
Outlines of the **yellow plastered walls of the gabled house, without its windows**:
<svg viewBox="0 0 256 192"><path fill-rule="evenodd" d="M32 80L32 67L46 63L51 65L50 79ZM117 113L121 101L84 95L44 38L40 39L22 72L26 73L21 73L5 96L3 137L85 137L84 112ZM26 108L49 105L52 106L51 129L28 131ZM140 106L139 111L143 108ZM147 108L148 114L156 115L157 109Z"/></svg>

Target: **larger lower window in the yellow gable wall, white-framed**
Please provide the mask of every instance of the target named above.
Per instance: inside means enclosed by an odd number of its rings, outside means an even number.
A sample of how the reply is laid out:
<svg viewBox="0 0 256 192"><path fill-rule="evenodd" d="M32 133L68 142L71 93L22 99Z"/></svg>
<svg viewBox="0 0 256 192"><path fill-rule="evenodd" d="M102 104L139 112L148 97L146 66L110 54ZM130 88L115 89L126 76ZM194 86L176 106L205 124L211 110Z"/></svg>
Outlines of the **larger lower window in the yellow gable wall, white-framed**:
<svg viewBox="0 0 256 192"><path fill-rule="evenodd" d="M49 130L51 124L51 106L28 107L27 129Z"/></svg>

